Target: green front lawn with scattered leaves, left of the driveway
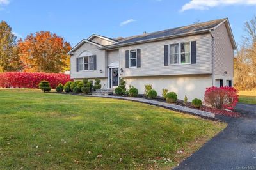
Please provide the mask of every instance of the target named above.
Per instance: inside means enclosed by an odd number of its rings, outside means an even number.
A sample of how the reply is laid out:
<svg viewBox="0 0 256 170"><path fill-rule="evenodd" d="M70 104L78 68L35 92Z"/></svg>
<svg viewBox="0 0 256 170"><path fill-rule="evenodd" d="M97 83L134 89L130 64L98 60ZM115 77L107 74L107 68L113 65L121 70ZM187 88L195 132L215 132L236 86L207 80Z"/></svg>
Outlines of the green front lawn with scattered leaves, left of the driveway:
<svg viewBox="0 0 256 170"><path fill-rule="evenodd" d="M26 89L0 97L0 169L174 167L226 127L124 100Z"/></svg>

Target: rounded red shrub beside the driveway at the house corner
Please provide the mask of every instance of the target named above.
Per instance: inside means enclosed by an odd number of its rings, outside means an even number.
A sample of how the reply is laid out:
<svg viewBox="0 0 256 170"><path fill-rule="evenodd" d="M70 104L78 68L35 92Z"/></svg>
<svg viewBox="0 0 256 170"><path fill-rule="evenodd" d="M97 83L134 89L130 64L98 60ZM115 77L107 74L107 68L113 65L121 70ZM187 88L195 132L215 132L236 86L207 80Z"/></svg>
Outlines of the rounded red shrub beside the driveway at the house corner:
<svg viewBox="0 0 256 170"><path fill-rule="evenodd" d="M204 102L216 109L234 109L238 102L237 89L232 87L215 86L206 88Z"/></svg>

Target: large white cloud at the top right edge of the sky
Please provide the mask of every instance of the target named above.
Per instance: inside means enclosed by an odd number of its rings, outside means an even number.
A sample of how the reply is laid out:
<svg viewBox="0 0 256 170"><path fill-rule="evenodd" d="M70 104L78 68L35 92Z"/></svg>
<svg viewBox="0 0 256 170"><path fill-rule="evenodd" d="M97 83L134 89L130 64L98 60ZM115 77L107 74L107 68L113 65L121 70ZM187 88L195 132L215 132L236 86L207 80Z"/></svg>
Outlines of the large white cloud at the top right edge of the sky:
<svg viewBox="0 0 256 170"><path fill-rule="evenodd" d="M228 5L256 5L256 0L191 0L182 6L181 12L186 10L208 10L216 6Z"/></svg>

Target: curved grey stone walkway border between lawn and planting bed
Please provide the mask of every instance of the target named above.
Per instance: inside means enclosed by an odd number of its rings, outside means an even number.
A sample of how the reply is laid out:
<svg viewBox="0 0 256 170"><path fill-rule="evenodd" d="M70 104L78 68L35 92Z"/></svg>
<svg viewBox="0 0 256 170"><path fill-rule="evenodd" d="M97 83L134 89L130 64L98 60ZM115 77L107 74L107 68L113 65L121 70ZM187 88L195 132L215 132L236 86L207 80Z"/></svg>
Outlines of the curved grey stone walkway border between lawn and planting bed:
<svg viewBox="0 0 256 170"><path fill-rule="evenodd" d="M173 111L183 112L186 114L193 114L195 116L200 116L201 118L209 119L209 120L219 120L218 118L215 118L215 114L212 112L205 112L200 111L198 109L192 109L189 107L181 106L181 105L175 105L175 104L168 104L166 102L159 102L157 100L149 100L146 98L136 98L136 97L122 97L122 96L111 96L111 95L84 95L84 94L76 94L76 93L61 93L61 94L71 94L71 95L79 95L79 96L86 96L86 97L101 97L101 98L114 98L114 99L120 99L120 100L129 100L132 102L140 102L144 104L150 104L155 105L158 107L163 107L165 109L170 109Z"/></svg>

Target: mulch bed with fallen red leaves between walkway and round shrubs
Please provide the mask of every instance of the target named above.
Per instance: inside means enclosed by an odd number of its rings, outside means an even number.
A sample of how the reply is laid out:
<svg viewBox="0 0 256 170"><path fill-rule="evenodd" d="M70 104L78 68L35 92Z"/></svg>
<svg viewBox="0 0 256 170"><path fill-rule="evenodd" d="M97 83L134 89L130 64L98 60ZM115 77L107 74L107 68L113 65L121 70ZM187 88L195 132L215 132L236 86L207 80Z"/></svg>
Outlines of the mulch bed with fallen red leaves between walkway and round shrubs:
<svg viewBox="0 0 256 170"><path fill-rule="evenodd" d="M125 96L125 97L129 97L129 96ZM148 100L156 100L156 101L159 101L159 102L166 102L166 100L164 100L163 97L156 97L154 99L149 99L149 98L145 97L145 95L138 95L137 98L145 98L145 99L148 99ZM184 101L179 100L179 99L177 100L177 102L175 104L185 106L185 107L189 107L189 108L192 108L192 109L198 109L198 108L193 107L191 102L187 102L187 104L184 104ZM206 105L202 105L202 107L200 107L198 110L205 111L205 112L212 112L216 115L224 115L224 116L230 116L230 117L239 117L240 116L240 114L238 112L227 111L227 110L223 110L223 109L222 110L215 109L215 108L212 108L212 107L207 107Z"/></svg>

